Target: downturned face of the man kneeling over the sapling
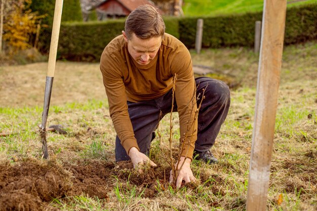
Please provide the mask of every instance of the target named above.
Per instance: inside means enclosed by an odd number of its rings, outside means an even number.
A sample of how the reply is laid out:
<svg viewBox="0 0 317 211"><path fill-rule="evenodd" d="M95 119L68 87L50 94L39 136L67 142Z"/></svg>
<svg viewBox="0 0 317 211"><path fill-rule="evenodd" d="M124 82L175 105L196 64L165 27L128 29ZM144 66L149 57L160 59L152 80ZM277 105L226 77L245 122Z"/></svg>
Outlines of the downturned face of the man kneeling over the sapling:
<svg viewBox="0 0 317 211"><path fill-rule="evenodd" d="M161 36L140 39L133 33L132 38L128 39L126 33L124 31L122 31L122 33L128 43L129 54L140 65L147 65L150 63L161 47Z"/></svg>

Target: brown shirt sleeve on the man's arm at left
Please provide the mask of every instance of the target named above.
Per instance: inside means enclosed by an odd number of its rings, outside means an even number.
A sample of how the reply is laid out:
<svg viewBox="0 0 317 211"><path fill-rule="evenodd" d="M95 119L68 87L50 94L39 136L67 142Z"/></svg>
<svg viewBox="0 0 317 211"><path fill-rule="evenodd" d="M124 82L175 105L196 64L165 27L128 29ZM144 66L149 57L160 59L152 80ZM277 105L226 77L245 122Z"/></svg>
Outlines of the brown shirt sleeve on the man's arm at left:
<svg viewBox="0 0 317 211"><path fill-rule="evenodd" d="M100 70L108 97L110 117L122 146L127 151L127 154L129 154L129 150L132 147L140 149L134 137L128 113L125 85L120 64L118 59L107 53L106 50L103 52L100 59Z"/></svg>

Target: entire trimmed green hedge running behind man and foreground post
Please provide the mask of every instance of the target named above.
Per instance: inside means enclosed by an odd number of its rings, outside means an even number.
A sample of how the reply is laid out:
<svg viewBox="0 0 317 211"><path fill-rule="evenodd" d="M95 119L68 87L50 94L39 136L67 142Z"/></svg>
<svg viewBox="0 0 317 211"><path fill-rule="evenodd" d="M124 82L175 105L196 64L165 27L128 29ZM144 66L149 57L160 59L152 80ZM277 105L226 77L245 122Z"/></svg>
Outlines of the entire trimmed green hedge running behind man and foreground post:
<svg viewBox="0 0 317 211"><path fill-rule="evenodd" d="M194 48L196 21L204 19L203 48L253 48L255 21L262 12L221 17L165 17L166 32ZM103 22L62 23L58 55L61 59L99 61L104 47L124 30L125 19ZM287 10L285 45L317 39L317 4Z"/></svg>

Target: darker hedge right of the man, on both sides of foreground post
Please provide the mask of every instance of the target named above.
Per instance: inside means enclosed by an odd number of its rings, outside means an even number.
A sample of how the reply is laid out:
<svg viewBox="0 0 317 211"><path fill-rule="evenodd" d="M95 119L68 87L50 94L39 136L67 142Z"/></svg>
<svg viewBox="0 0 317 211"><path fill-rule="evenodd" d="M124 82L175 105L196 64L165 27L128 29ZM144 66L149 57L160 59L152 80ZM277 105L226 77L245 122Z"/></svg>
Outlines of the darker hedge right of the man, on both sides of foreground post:
<svg viewBox="0 0 317 211"><path fill-rule="evenodd" d="M187 48L194 48L196 21L204 19L204 48L254 46L255 21L262 20L262 12L222 17L195 17L179 20L180 40ZM285 45L317 38L317 4L287 10Z"/></svg>

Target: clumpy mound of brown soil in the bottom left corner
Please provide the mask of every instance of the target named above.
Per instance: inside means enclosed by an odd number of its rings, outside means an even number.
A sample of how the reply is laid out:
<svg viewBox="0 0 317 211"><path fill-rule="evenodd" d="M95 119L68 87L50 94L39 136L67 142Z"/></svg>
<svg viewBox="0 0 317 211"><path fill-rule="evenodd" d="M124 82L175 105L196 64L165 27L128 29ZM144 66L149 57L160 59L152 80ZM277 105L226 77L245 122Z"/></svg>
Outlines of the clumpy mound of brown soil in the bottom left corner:
<svg viewBox="0 0 317 211"><path fill-rule="evenodd" d="M2 210L42 210L45 202L65 196L71 187L69 174L54 161L5 163L0 169Z"/></svg>

